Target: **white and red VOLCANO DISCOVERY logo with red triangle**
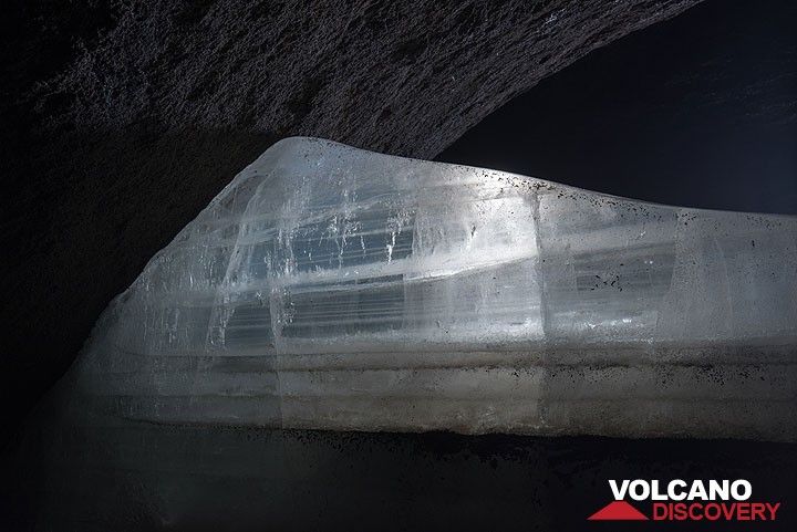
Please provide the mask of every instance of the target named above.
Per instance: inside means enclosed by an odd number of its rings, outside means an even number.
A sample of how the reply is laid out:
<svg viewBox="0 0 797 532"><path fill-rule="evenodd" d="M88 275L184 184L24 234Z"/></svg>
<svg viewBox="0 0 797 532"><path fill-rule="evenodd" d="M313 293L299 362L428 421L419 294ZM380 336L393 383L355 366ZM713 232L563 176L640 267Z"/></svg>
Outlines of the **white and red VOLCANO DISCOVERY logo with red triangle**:
<svg viewBox="0 0 797 532"><path fill-rule="evenodd" d="M614 501L589 521L775 521L779 502L752 501L746 480L610 480ZM634 501L634 504L627 499ZM636 505L651 501L649 514ZM645 504L646 507L646 504Z"/></svg>

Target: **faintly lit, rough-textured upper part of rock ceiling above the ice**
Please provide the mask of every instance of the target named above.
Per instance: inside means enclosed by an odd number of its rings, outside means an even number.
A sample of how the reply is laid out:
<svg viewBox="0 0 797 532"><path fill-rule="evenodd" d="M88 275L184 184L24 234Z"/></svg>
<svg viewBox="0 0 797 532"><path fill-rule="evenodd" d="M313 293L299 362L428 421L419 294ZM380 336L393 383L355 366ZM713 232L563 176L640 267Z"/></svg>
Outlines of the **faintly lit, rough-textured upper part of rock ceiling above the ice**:
<svg viewBox="0 0 797 532"><path fill-rule="evenodd" d="M34 92L48 124L318 135L431 158L546 75L695 2L130 3Z"/></svg>

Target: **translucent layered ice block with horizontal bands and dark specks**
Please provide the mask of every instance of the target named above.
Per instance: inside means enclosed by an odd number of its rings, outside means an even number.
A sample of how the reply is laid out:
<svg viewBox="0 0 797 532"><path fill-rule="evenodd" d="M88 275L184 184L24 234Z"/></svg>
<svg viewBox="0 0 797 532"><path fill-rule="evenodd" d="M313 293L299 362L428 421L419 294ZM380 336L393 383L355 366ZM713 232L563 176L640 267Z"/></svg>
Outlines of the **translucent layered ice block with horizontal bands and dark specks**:
<svg viewBox="0 0 797 532"><path fill-rule="evenodd" d="M797 219L282 140L106 310L82 416L797 438Z"/></svg>

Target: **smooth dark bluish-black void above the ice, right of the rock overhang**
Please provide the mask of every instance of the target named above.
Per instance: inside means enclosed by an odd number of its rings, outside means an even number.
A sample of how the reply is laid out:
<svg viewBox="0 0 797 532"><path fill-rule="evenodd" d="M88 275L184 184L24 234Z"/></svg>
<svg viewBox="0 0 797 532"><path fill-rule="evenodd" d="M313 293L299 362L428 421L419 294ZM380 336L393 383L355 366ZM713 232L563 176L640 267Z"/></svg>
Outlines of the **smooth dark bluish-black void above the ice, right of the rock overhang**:
<svg viewBox="0 0 797 532"><path fill-rule="evenodd" d="M707 1L513 100L437 159L649 201L797 213L797 3Z"/></svg>

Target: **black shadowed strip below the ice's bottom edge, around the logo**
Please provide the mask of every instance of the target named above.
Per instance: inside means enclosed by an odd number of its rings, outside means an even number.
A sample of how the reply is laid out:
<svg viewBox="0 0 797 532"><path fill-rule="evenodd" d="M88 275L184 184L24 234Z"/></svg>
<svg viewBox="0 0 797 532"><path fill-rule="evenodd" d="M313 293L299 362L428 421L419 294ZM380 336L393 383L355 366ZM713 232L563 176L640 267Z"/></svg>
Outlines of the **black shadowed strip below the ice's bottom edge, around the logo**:
<svg viewBox="0 0 797 532"><path fill-rule="evenodd" d="M762 530L797 526L797 448L731 440L39 424L4 530ZM776 522L588 522L609 479L746 479ZM650 502L636 504L650 514Z"/></svg>

